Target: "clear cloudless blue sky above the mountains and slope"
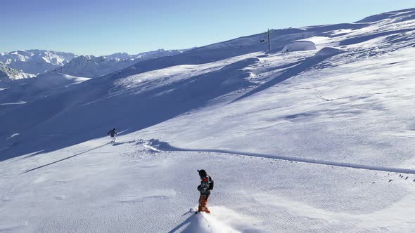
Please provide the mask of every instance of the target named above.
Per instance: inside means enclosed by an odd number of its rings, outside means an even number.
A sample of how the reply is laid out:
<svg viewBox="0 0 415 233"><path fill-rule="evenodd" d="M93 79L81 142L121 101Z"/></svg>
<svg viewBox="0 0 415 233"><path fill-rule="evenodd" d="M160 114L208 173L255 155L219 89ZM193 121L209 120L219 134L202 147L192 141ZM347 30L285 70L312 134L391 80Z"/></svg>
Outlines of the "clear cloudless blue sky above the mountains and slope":
<svg viewBox="0 0 415 233"><path fill-rule="evenodd" d="M0 52L190 48L413 7L414 0L0 0Z"/></svg>

